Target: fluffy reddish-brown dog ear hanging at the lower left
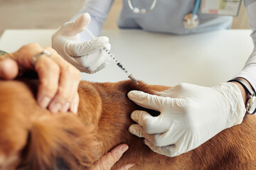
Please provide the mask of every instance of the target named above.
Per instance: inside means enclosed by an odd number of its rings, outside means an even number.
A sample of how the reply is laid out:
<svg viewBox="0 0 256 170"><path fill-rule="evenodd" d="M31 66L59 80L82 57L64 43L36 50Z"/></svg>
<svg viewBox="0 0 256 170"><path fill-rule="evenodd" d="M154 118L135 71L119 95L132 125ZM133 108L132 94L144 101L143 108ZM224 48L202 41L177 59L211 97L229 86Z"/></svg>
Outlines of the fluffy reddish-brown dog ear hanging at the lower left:
<svg viewBox="0 0 256 170"><path fill-rule="evenodd" d="M33 118L25 162L30 169L51 169L61 159L70 169L80 169L97 160L97 147L95 127L76 115L42 115Z"/></svg>

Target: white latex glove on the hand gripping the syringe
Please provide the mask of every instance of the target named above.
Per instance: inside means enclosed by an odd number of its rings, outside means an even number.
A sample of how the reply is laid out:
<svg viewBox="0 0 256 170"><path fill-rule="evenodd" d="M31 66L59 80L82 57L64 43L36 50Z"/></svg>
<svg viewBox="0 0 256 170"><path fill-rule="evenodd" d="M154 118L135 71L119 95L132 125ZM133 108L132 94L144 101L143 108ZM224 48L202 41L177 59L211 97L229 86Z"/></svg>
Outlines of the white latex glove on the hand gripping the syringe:
<svg viewBox="0 0 256 170"><path fill-rule="evenodd" d="M102 50L110 50L109 39L105 36L81 42L81 33L90 23L89 13L83 13L74 22L65 23L52 37L53 48L81 72L95 73L110 63L110 58Z"/></svg>

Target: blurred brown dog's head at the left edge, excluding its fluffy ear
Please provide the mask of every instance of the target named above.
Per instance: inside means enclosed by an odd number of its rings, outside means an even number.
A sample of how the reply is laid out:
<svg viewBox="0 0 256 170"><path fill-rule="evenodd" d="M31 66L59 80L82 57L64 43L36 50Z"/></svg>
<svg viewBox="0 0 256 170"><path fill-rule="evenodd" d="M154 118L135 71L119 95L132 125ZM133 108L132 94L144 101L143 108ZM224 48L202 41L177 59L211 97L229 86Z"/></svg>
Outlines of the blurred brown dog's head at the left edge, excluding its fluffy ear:
<svg viewBox="0 0 256 170"><path fill-rule="evenodd" d="M0 168L15 169L26 145L28 129L27 99L20 90L28 88L17 81L0 81ZM23 114L24 113L24 114Z"/></svg>

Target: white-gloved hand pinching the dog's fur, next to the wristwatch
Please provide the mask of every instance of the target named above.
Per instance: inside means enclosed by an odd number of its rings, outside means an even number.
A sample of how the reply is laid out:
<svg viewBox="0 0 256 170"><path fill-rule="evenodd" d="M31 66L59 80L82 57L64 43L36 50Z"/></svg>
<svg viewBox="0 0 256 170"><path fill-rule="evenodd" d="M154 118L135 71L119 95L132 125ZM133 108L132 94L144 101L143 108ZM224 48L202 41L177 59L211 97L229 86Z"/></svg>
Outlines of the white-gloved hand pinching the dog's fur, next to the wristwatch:
<svg viewBox="0 0 256 170"><path fill-rule="evenodd" d="M179 84L157 95L130 91L128 97L144 108L160 111L153 117L134 111L129 132L144 137L154 152L175 157L209 140L218 132L240 124L245 104L236 84L204 87Z"/></svg>

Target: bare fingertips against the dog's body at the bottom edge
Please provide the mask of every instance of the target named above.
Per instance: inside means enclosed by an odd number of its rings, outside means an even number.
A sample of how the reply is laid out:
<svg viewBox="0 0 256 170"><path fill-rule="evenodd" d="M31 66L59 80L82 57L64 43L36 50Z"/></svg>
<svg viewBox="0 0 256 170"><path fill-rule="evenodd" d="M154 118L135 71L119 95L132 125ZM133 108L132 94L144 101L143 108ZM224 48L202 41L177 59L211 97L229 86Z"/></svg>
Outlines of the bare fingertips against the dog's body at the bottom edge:
<svg viewBox="0 0 256 170"><path fill-rule="evenodd" d="M95 166L92 166L90 170L109 170L112 168L112 166L122 157L122 154L126 152L128 149L128 146L126 144L121 144L112 149L112 151L105 154L98 164L95 164ZM127 170L131 168L133 164L127 164L122 166L119 170Z"/></svg>

